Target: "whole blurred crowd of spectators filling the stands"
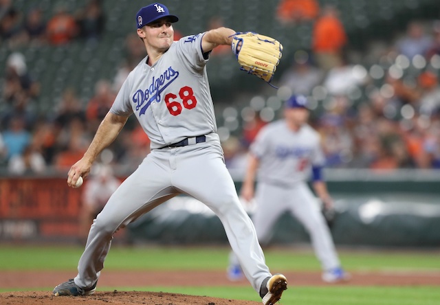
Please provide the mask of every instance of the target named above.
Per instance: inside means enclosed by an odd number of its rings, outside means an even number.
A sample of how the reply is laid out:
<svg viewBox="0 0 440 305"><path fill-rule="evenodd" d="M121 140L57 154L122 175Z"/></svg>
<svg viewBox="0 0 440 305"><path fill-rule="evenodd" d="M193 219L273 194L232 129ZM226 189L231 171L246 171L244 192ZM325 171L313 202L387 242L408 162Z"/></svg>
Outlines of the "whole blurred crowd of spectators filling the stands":
<svg viewBox="0 0 440 305"><path fill-rule="evenodd" d="M314 25L310 49L283 58L292 65L281 75L276 98L308 97L310 123L322 135L327 166L440 168L440 23L410 22L405 33L360 64L349 56L349 39L336 8L320 8L314 0L285 0L277 17L281 23ZM57 47L75 39L97 42L105 19L100 0L87 1L74 13L60 4L47 20L38 6L25 13L14 9L12 1L0 0L0 41L12 49L29 44ZM213 18L211 23L217 27L222 21ZM28 71L26 58L10 54L1 76L0 166L11 174L67 172L85 153L129 71L144 57L135 33L126 37L124 47L126 56L117 74L98 81L90 100L80 100L75 89L67 87L53 113L37 113L40 84ZM275 111L282 109L279 105ZM252 111L252 103L248 108ZM253 109L253 115L241 111L239 131L222 138L229 168L245 166L254 137L276 120L276 115L267 118L260 110ZM133 170L148 154L149 144L131 117L100 161Z"/></svg>

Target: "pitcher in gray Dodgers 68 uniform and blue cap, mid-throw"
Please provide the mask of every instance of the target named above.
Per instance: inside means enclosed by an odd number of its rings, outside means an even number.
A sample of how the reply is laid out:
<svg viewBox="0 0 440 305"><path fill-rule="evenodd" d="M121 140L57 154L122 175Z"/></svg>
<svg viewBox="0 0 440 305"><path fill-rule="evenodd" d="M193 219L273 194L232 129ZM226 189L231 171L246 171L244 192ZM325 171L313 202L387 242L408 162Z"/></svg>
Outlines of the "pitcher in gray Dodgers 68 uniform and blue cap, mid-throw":
<svg viewBox="0 0 440 305"><path fill-rule="evenodd" d="M263 304L276 303L287 289L284 275L272 275L265 264L215 133L206 63L214 47L232 44L235 31L221 27L173 41L172 23L178 20L160 3L137 12L137 35L147 56L122 84L84 157L69 170L67 183L72 186L78 177L87 177L96 157L133 113L151 139L151 153L98 214L78 263L78 275L56 286L54 295L94 293L115 231L177 194L195 197L219 216Z"/></svg>

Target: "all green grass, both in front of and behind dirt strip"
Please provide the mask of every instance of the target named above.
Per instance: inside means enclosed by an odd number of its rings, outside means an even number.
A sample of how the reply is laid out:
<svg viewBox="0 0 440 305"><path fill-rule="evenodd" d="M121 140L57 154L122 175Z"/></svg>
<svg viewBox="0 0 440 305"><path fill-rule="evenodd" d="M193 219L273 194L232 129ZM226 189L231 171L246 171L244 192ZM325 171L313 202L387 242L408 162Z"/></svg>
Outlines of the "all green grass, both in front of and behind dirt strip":
<svg viewBox="0 0 440 305"><path fill-rule="evenodd" d="M83 247L0 247L1 271L75 270ZM112 247L105 262L106 270L225 270L228 247ZM339 251L344 268L349 271L419 270L440 272L439 251ZM320 265L310 250L284 248L265 251L267 265L273 272L318 271ZM289 286L281 305L438 305L437 286ZM48 293L53 287L42 287ZM209 295L234 300L259 302L259 295L249 286L148 286L108 287L99 291L163 291L187 295ZM15 289L26 291L26 287ZM10 290L0 289L0 292Z"/></svg>

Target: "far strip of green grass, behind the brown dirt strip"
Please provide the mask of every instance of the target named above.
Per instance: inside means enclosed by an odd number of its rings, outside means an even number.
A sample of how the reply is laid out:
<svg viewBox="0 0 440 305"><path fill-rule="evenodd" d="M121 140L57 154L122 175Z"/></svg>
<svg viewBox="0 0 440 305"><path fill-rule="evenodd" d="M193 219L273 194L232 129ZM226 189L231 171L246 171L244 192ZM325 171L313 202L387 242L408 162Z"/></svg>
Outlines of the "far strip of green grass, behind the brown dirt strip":
<svg viewBox="0 0 440 305"><path fill-rule="evenodd" d="M83 247L0 248L1 270L71 270ZM228 247L112 247L106 269L119 270L224 270ZM267 265L277 271L318 271L314 253L296 249L268 249ZM440 270L439 252L340 251L347 270Z"/></svg>

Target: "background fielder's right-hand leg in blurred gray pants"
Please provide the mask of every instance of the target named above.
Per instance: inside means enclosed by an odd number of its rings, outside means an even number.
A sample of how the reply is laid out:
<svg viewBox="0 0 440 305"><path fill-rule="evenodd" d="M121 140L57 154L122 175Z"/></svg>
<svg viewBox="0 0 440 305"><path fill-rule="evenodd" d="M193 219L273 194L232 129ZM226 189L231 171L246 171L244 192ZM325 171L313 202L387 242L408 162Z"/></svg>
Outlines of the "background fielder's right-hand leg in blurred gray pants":
<svg viewBox="0 0 440 305"><path fill-rule="evenodd" d="M296 188L294 199L294 215L300 223L303 223L310 234L316 256L320 260L322 269L328 270L340 267L338 254L336 253L333 238L329 227L325 223L316 199L306 185Z"/></svg>

